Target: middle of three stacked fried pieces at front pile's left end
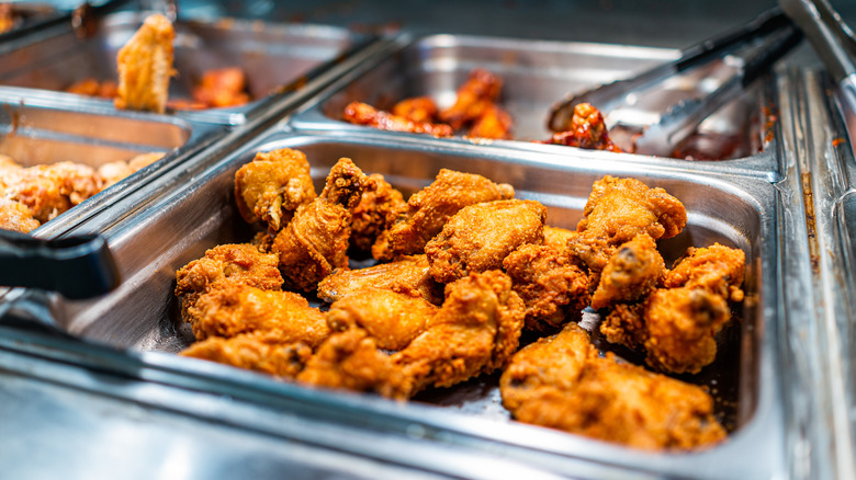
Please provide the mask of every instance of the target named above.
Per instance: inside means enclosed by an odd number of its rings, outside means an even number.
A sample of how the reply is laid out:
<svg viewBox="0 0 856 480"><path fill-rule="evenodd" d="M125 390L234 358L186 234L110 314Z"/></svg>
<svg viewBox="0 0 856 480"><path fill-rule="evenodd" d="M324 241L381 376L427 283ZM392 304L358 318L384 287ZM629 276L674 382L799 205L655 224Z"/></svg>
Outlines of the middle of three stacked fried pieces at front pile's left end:
<svg viewBox="0 0 856 480"><path fill-rule="evenodd" d="M244 284L218 285L200 296L189 313L196 340L275 331L281 343L314 347L330 333L324 313L301 295Z"/></svg>

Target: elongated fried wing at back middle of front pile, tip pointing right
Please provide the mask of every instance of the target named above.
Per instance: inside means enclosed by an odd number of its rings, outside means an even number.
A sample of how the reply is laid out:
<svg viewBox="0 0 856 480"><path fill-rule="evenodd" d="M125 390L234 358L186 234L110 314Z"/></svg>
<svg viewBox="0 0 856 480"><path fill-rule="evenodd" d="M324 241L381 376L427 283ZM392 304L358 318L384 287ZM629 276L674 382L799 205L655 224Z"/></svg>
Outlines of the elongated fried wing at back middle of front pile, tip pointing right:
<svg viewBox="0 0 856 480"><path fill-rule="evenodd" d="M421 253L425 244L461 208L482 202L509 199L514 195L511 185L442 169L430 185L410 196L407 205L396 213L393 224L372 245L372 256L390 261Z"/></svg>

